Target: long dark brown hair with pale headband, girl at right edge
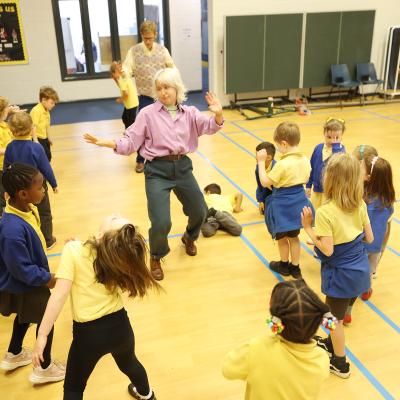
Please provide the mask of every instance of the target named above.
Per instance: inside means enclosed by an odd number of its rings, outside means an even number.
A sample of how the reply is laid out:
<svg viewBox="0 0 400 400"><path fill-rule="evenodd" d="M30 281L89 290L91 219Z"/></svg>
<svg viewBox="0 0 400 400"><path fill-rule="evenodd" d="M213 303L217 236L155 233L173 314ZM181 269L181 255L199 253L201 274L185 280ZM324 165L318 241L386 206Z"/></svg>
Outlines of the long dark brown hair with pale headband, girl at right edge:
<svg viewBox="0 0 400 400"><path fill-rule="evenodd" d="M364 200L370 203L378 198L383 208L391 207L396 201L393 187L393 173L389 162L384 158L367 156L364 158L369 178L364 182Z"/></svg>

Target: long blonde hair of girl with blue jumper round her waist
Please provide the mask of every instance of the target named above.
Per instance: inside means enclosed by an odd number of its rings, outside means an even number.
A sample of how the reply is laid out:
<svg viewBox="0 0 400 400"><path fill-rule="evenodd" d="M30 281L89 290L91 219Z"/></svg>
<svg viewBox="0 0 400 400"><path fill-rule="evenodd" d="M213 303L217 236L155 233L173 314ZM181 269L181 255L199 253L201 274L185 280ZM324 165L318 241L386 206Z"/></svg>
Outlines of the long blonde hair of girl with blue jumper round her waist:
<svg viewBox="0 0 400 400"><path fill-rule="evenodd" d="M333 154L324 172L324 195L341 210L353 212L363 199L360 162L350 154Z"/></svg>

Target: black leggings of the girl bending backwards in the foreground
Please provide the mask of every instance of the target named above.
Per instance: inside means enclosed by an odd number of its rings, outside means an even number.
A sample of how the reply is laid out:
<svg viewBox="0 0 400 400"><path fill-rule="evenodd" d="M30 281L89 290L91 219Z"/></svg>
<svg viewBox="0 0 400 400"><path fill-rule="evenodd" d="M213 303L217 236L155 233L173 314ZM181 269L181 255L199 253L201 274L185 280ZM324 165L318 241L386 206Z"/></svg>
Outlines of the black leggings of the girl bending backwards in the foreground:
<svg viewBox="0 0 400 400"><path fill-rule="evenodd" d="M135 337L125 309L89 322L75 322L68 353L64 400L80 400L97 362L111 353L139 394L150 392L147 373L135 355Z"/></svg>

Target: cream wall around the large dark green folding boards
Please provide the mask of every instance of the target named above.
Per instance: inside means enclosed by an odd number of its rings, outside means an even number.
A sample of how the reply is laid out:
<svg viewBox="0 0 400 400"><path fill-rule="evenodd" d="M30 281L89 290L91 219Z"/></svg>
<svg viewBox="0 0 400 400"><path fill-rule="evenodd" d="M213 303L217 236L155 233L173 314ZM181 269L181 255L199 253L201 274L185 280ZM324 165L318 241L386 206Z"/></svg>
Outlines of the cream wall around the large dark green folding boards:
<svg viewBox="0 0 400 400"><path fill-rule="evenodd" d="M376 10L371 61L380 73L388 28L400 24L399 0L208 0L210 90L216 92L224 105L229 104L229 99L233 98L226 95L223 89L224 16L356 10Z"/></svg>

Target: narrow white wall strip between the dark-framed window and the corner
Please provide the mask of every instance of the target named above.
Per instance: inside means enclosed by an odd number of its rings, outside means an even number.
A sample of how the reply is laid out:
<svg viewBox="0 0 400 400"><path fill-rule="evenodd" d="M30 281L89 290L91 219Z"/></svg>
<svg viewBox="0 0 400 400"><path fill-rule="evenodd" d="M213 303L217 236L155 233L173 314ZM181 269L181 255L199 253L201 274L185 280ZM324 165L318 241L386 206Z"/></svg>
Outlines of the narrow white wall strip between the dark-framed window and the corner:
<svg viewBox="0 0 400 400"><path fill-rule="evenodd" d="M171 54L189 90L201 90L201 1L170 0Z"/></svg>

